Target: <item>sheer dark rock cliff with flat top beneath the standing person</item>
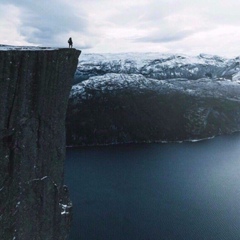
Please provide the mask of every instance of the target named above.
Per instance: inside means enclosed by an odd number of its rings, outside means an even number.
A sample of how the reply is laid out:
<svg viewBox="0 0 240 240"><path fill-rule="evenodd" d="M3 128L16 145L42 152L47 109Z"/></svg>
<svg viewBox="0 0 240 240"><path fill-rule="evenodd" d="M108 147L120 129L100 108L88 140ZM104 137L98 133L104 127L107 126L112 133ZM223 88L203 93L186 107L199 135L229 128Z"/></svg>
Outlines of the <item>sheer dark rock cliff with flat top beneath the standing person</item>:
<svg viewBox="0 0 240 240"><path fill-rule="evenodd" d="M0 239L66 239L65 111L80 51L0 47Z"/></svg>

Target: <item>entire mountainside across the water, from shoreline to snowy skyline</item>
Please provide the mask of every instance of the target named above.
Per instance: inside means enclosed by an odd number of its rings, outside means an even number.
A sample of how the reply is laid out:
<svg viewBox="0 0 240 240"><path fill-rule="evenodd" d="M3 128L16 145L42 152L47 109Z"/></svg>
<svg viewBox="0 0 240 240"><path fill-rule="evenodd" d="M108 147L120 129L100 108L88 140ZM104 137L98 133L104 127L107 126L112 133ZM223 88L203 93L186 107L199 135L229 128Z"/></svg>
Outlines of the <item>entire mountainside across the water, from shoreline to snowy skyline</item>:
<svg viewBox="0 0 240 240"><path fill-rule="evenodd" d="M239 62L207 54L85 54L69 98L67 144L183 141L240 131Z"/></svg>

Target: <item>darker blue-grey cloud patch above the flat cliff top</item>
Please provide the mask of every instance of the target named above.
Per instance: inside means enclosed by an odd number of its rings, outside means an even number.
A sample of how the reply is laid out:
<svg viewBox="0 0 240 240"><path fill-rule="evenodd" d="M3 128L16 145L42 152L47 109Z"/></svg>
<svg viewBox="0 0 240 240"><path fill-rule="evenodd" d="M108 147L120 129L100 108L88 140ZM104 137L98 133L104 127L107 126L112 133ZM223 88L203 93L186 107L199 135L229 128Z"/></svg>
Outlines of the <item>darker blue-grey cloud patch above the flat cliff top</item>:
<svg viewBox="0 0 240 240"><path fill-rule="evenodd" d="M69 31L86 33L88 21L83 12L57 0L3 0L21 9L19 32L33 44L55 45L55 36Z"/></svg>

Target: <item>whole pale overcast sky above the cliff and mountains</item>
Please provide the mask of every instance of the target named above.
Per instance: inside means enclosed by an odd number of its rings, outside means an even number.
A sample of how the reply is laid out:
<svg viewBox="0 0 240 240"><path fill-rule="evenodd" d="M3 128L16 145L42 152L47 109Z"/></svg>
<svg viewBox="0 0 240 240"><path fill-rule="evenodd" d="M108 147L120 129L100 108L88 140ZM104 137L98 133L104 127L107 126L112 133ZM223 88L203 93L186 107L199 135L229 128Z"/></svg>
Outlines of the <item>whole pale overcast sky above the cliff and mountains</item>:
<svg viewBox="0 0 240 240"><path fill-rule="evenodd" d="M0 44L240 55L239 0L1 0Z"/></svg>

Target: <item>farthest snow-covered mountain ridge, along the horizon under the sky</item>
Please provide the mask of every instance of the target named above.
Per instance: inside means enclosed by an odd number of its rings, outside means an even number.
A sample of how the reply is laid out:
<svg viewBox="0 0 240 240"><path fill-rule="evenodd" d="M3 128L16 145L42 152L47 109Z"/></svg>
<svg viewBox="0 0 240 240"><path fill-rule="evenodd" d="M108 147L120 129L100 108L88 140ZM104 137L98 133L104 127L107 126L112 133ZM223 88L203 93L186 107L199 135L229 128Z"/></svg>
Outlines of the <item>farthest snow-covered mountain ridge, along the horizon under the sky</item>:
<svg viewBox="0 0 240 240"><path fill-rule="evenodd" d="M106 73L142 74L158 80L202 77L232 79L233 75L238 76L239 62L239 58L227 59L208 54L83 54L75 74L75 83Z"/></svg>

